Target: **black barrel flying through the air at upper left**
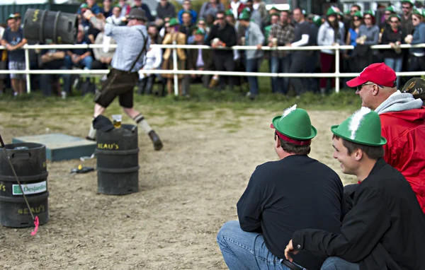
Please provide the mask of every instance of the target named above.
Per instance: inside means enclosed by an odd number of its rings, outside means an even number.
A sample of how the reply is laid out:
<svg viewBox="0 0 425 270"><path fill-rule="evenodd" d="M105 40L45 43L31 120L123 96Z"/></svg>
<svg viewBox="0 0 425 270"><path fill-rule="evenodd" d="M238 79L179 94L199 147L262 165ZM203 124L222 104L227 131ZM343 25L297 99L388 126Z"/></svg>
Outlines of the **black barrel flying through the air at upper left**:
<svg viewBox="0 0 425 270"><path fill-rule="evenodd" d="M77 14L28 8L23 20L23 37L27 40L57 44L75 44L77 41Z"/></svg>

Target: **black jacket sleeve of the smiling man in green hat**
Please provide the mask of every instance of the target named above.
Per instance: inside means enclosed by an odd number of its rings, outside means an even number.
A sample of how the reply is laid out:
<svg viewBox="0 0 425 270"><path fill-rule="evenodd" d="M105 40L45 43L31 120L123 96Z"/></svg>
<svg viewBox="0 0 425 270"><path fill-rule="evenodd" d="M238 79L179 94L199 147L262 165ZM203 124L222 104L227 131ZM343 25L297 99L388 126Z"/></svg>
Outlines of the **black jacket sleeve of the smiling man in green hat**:
<svg viewBox="0 0 425 270"><path fill-rule="evenodd" d="M293 247L327 257L340 257L348 262L359 262L367 257L390 228L390 217L380 190L367 188L359 192L361 194L356 196L361 196L361 201L347 213L340 234L297 230L293 235Z"/></svg>

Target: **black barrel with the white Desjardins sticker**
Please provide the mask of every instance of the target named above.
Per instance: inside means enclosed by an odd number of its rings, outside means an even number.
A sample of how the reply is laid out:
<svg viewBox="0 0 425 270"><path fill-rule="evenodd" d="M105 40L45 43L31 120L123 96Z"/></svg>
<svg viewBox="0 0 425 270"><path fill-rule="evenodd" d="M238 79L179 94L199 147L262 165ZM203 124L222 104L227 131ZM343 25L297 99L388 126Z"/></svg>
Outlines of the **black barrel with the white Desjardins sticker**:
<svg viewBox="0 0 425 270"><path fill-rule="evenodd" d="M40 225L49 221L46 147L40 143L6 144L8 156ZM12 228L34 225L21 189L0 147L0 224Z"/></svg>

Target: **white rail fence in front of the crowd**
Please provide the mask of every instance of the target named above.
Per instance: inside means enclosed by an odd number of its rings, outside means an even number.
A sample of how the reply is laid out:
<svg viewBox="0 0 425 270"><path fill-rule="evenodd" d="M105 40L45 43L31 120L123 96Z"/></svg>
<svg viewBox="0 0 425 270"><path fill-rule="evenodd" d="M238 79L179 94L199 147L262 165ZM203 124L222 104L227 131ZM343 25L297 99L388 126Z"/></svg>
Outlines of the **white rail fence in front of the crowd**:
<svg viewBox="0 0 425 270"><path fill-rule="evenodd" d="M212 49L207 45L151 45L152 47L159 47L162 49L173 49L173 70L143 70L139 71L143 74L174 74L174 94L179 95L178 86L178 75L179 74L197 74L197 75L219 75L219 76L259 76L259 77L290 77L290 78L335 78L335 92L339 93L339 79L358 76L357 73L340 73L340 52L344 50L354 49L351 45L344 46L305 46L305 47L261 47L264 51L314 51L321 49L332 49L335 53L335 72L334 73L266 73L266 72L236 72L236 71L188 71L178 70L177 67L177 56L176 49ZM110 45L111 48L116 48L117 45ZM400 45L402 49L409 48L425 48L425 44L420 45ZM42 70L31 70L30 69L30 55L29 49L94 49L103 48L103 45L24 45L25 49L25 61L26 69L17 70L0 70L0 74L26 74L27 92L30 93L30 74L80 74L80 75L103 75L108 74L108 69L42 69ZM391 49L390 45L373 45L371 49ZM0 49L6 49L4 46L0 46ZM231 48L223 49L240 49L240 50L256 50L256 46L234 46ZM397 72L397 76L423 76L425 71L418 72Z"/></svg>

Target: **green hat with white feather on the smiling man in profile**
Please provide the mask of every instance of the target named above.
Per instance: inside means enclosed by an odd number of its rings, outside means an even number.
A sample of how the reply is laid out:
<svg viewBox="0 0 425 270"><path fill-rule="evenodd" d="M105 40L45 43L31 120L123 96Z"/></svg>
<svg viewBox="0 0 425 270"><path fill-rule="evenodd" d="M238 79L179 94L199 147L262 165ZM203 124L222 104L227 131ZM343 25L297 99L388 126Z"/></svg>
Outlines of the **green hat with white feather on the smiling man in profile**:
<svg viewBox="0 0 425 270"><path fill-rule="evenodd" d="M361 107L342 124L332 126L331 131L347 141L366 146L383 146L387 143L387 140L381 136L378 113L368 107Z"/></svg>

